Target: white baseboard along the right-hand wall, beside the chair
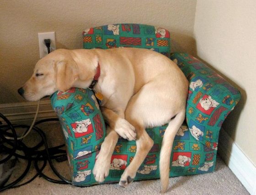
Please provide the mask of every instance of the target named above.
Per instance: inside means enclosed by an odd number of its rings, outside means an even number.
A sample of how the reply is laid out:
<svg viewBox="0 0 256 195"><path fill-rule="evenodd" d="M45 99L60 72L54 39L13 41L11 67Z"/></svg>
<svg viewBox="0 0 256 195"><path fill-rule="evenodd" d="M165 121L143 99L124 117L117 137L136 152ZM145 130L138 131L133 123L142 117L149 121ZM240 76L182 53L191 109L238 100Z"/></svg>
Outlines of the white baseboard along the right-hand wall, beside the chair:
<svg viewBox="0 0 256 195"><path fill-rule="evenodd" d="M229 137L224 129L220 131L218 145L219 155L229 169L251 195L256 195L256 166L234 143L234 140Z"/></svg>

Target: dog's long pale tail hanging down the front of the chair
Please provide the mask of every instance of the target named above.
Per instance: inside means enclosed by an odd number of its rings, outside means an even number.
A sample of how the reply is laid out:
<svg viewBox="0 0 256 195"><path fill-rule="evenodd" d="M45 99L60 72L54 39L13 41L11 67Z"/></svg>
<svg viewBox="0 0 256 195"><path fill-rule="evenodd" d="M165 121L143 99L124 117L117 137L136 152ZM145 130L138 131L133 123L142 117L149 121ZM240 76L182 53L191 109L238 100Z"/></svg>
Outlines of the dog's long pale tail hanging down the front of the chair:
<svg viewBox="0 0 256 195"><path fill-rule="evenodd" d="M176 117L171 119L168 124L164 138L162 141L161 152L160 152L160 179L161 179L161 193L165 193L169 185L169 173L170 173L170 157L171 149L174 141L174 137L184 122L186 114L186 108L180 113L176 114Z"/></svg>

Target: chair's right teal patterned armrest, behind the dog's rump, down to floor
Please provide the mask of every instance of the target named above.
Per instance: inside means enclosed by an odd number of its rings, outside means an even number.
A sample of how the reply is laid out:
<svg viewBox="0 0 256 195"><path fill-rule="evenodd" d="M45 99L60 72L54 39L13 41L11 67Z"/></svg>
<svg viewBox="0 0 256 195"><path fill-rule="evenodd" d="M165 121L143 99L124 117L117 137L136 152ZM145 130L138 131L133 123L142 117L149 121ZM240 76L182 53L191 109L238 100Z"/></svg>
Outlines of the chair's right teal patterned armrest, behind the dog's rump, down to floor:
<svg viewBox="0 0 256 195"><path fill-rule="evenodd" d="M203 62L187 53L175 52L171 54L171 60L177 61L189 81L186 121L190 138L189 141L184 140L184 134L174 145L184 142L183 151L191 158L187 168L177 167L173 171L181 171L181 175L186 172L212 172L216 163L219 130L225 118L240 101L240 92ZM172 156L175 154L173 148ZM172 162L173 160L174 157Z"/></svg>

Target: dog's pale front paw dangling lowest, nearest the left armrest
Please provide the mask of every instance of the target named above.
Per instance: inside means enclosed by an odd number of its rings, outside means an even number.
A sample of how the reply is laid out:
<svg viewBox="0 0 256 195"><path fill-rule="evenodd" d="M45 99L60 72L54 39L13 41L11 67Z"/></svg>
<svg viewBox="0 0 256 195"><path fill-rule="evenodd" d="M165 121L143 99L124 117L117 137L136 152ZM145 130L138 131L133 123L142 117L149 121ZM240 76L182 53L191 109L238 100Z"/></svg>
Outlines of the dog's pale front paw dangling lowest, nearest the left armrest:
<svg viewBox="0 0 256 195"><path fill-rule="evenodd" d="M105 180L105 178L109 174L110 169L110 163L108 159L101 158L100 155L97 155L97 160L95 162L94 168L92 170L92 173L94 175L94 178L97 182L101 183Z"/></svg>

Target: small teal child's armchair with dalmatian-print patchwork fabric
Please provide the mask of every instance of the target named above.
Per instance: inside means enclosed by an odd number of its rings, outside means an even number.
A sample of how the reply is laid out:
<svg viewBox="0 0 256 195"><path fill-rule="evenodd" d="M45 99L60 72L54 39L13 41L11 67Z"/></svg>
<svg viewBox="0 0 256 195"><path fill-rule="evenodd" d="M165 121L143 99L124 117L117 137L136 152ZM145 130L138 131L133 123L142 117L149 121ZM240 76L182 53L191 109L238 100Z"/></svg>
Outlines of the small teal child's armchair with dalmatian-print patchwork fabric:
<svg viewBox="0 0 256 195"><path fill-rule="evenodd" d="M157 31L154 35L153 33L145 33L151 32L147 29L152 29L153 32L154 26L135 24L117 24L115 26L118 26L119 31L109 32L109 29L114 29L114 27L108 28L108 25L86 30L84 32L84 48L100 47L107 49L111 48L110 45L115 47L137 46L153 48L166 56L170 55L170 39L168 37L160 37ZM140 34L134 32L140 32ZM168 31L165 30L165 33L170 36ZM123 41L125 39L120 37L139 37L141 44L131 45L129 43L125 45ZM155 38L154 44L145 46L147 44L146 38ZM115 41L109 43L109 39ZM158 45L158 40L161 39L167 40L168 46ZM101 43L97 43L97 40ZM170 177L212 172L216 163L220 127L239 102L240 92L195 57L178 52L171 54L170 57L177 62L189 80L186 122L181 126L174 140L170 159ZM53 94L52 105L60 118L66 138L73 184L95 185L97 183L91 171L95 164L95 157L106 135L105 124L91 90L78 88L70 90L65 93L56 92ZM82 123L81 121L85 123L88 118L90 122L87 124L91 127L86 133L76 132L75 128L78 128L79 124ZM160 148L166 127L163 125L146 129L149 136L154 140L154 145L140 166L134 180L160 178L158 168ZM123 170L133 160L135 152L135 141L120 138L112 155L109 176L104 183L118 182ZM120 162L122 166L116 166L116 161Z"/></svg>

